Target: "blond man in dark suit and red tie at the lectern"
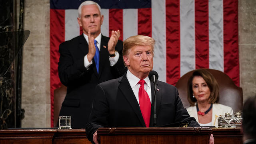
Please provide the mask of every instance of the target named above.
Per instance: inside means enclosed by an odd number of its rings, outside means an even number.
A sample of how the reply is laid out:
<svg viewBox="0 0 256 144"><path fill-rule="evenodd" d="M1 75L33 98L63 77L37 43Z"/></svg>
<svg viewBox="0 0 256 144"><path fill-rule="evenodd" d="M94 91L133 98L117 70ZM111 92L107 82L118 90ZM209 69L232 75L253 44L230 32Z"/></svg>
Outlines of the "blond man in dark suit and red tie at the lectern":
<svg viewBox="0 0 256 144"><path fill-rule="evenodd" d="M92 105L86 134L98 143L96 130L101 127L152 127L154 84L148 78L153 68L155 40L148 36L131 36L124 41L123 59L128 68L124 76L100 83ZM200 126L189 116L178 90L157 81L156 126L187 122Z"/></svg>

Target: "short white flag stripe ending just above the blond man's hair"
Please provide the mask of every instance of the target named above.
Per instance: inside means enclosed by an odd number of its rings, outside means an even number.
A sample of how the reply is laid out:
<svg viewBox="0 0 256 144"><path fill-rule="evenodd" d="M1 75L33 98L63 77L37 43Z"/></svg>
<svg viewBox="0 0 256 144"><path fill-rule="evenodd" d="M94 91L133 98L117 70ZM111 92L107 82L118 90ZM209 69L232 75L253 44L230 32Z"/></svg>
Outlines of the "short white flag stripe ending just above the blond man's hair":
<svg viewBox="0 0 256 144"><path fill-rule="evenodd" d="M123 39L138 34L138 9L123 10Z"/></svg>

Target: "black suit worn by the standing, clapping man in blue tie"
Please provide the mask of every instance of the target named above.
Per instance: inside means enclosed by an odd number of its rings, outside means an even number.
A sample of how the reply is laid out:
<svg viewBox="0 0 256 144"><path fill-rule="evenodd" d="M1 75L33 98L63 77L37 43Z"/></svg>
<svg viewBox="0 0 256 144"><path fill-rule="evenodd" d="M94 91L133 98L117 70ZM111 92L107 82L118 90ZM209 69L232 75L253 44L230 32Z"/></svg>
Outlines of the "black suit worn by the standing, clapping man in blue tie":
<svg viewBox="0 0 256 144"><path fill-rule="evenodd" d="M68 87L60 116L71 116L72 128L85 128L96 85L118 78L126 71L122 61L122 41L118 41L116 45L116 50L120 54L119 60L114 66L110 66L108 49L104 48L108 46L108 40L106 36L101 38L99 74L94 59L88 70L84 67L88 44L83 35L60 44L58 72L62 84Z"/></svg>

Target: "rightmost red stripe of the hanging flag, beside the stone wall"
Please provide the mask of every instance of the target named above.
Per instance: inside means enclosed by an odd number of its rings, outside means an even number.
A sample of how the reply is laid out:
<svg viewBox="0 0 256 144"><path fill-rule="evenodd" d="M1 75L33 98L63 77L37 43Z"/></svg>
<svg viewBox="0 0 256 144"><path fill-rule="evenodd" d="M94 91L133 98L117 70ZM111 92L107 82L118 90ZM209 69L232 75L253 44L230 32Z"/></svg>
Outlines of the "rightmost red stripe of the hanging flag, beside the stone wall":
<svg viewBox="0 0 256 144"><path fill-rule="evenodd" d="M239 86L238 1L223 0L224 73Z"/></svg>

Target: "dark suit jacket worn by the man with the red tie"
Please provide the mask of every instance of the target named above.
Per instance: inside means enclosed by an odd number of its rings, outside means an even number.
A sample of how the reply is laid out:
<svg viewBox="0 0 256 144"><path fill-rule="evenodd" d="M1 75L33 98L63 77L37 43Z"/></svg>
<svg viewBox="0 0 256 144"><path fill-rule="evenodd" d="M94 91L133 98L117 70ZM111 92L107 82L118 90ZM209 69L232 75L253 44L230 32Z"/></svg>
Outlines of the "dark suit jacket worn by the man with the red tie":
<svg viewBox="0 0 256 144"><path fill-rule="evenodd" d="M165 82L157 81L156 91L156 126L187 121L189 126L200 126L195 118L190 117L178 96L178 90ZM151 82L152 104L150 127L153 126L154 84ZM96 87L86 134L92 141L92 135L100 127L146 127L140 106L132 88L124 76L103 82Z"/></svg>

